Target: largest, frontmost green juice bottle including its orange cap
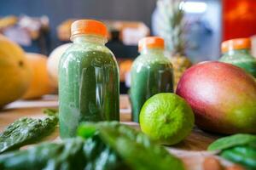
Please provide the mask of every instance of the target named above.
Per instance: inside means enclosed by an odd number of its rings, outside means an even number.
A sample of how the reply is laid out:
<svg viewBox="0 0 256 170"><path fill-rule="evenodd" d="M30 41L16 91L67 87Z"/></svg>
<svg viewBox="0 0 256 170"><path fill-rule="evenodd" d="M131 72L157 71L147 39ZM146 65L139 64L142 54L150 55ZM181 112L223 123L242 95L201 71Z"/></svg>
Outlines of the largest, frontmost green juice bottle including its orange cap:
<svg viewBox="0 0 256 170"><path fill-rule="evenodd" d="M119 121L119 70L105 46L108 30L96 20L72 24L73 45L61 56L61 138L76 135L80 122Z"/></svg>

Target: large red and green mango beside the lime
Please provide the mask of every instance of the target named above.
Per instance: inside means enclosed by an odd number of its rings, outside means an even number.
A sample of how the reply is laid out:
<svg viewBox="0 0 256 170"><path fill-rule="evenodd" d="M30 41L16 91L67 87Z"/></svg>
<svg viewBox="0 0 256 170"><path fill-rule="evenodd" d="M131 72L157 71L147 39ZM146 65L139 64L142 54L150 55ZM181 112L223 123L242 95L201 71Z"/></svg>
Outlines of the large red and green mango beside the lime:
<svg viewBox="0 0 256 170"><path fill-rule="evenodd" d="M185 71L177 94L198 127L214 133L256 133L256 82L235 65L202 62Z"/></svg>

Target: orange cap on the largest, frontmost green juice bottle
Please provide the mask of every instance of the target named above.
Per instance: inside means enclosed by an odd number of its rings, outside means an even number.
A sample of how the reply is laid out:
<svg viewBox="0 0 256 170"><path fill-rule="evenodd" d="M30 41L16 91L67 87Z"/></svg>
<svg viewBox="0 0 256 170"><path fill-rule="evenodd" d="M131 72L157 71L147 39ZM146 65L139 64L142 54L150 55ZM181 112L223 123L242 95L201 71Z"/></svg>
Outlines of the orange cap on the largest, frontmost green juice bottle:
<svg viewBox="0 0 256 170"><path fill-rule="evenodd" d="M79 34L108 37L108 28L97 20L76 20L71 25L71 37Z"/></svg>

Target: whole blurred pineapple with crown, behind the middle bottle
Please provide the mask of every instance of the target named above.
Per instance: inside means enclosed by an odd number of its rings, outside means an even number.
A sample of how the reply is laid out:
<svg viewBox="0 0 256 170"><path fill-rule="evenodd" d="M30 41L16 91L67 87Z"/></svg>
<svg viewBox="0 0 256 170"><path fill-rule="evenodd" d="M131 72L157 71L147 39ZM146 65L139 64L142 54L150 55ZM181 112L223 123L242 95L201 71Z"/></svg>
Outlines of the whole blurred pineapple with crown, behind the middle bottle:
<svg viewBox="0 0 256 170"><path fill-rule="evenodd" d="M184 12L181 0L158 0L160 12L159 34L166 41L167 53L171 56L174 71L174 89L183 72L191 65L185 56L186 42L184 38Z"/></svg>

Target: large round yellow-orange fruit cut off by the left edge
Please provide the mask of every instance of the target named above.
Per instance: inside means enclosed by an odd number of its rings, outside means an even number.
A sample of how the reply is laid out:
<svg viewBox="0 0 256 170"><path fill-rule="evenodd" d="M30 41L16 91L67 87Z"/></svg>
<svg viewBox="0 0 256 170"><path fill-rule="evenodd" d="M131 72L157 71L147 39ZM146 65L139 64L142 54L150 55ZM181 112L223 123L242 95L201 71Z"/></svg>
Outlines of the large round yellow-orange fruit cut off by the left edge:
<svg viewBox="0 0 256 170"><path fill-rule="evenodd" d="M31 71L22 48L0 35L0 108L26 93Z"/></svg>

